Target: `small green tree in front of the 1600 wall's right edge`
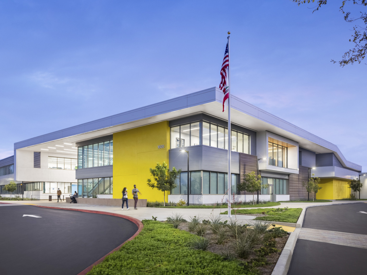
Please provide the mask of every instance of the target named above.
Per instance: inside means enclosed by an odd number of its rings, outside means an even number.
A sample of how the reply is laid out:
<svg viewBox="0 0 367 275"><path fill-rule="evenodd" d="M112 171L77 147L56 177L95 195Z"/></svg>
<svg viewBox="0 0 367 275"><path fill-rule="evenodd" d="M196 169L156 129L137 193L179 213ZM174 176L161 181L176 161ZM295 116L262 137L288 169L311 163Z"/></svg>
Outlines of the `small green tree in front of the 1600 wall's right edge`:
<svg viewBox="0 0 367 275"><path fill-rule="evenodd" d="M166 162L159 164L157 162L156 167L149 169L150 175L153 176L153 182L151 179L147 180L147 184L149 187L157 188L160 191L163 191L163 205L166 206L166 191L172 190L177 187L175 184L175 180L181 173L181 169L176 170L175 167L172 168L172 171L168 168Z"/></svg>

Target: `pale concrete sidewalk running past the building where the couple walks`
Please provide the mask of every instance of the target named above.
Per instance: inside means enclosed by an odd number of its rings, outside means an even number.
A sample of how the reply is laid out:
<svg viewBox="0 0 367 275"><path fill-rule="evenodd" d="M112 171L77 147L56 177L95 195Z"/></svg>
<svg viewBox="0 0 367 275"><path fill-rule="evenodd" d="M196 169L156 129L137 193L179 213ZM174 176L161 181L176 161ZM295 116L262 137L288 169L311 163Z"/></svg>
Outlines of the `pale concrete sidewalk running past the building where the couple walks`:
<svg viewBox="0 0 367 275"><path fill-rule="evenodd" d="M219 213L227 210L224 208L155 208L155 207L141 207L138 210L134 210L134 208L130 208L130 210L123 209L116 206L103 206L103 205L92 205L92 204L78 204L78 203L66 203L64 202L56 202L56 201L0 201L6 203L19 203L26 205L43 205L43 206L52 206L52 207L62 207L62 208L74 208L74 209L88 209L88 210L98 210L105 211L111 213L123 214L126 216L134 217L138 220L148 219L151 220L152 216L157 217L157 220L166 220L168 216L173 213L181 213L183 218L188 220L190 216L198 216L200 215L203 219L208 219L211 215L219 215ZM309 205L330 205L335 203L350 203L350 201L333 201L333 202L281 202L280 205L270 206L270 207L248 207L248 208L240 208L240 209L258 209L258 208L305 208ZM360 201L357 201L360 202ZM225 220L229 220L226 215L221 215ZM246 216L246 215L232 215L232 219L237 219L241 223L248 223L250 220L254 219L254 216Z"/></svg>

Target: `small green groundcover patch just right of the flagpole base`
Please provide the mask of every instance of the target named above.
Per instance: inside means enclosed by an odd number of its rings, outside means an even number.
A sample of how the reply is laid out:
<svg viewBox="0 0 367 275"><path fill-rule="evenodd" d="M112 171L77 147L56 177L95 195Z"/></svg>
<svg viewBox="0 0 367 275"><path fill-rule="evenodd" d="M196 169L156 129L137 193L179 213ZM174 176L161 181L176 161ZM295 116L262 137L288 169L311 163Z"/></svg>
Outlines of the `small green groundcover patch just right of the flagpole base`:
<svg viewBox="0 0 367 275"><path fill-rule="evenodd" d="M284 209L284 208L280 208ZM265 214L269 216L265 217L256 217L255 220L262 221L281 221L283 223L297 223L299 215L302 212L302 208L288 208L288 210L283 210L281 212L277 212L276 208L262 208L262 209L239 209L236 210L236 213L240 214L261 214L265 212ZM222 212L221 214L228 214L228 211ZM235 210L231 211L231 214L235 214Z"/></svg>

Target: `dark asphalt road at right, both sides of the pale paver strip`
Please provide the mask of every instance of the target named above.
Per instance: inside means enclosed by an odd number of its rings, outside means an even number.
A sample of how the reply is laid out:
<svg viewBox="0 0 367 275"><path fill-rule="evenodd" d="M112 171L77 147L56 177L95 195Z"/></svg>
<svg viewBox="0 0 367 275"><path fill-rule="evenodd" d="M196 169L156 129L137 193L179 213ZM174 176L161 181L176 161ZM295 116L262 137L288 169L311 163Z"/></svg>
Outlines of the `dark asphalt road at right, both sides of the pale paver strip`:
<svg viewBox="0 0 367 275"><path fill-rule="evenodd" d="M306 209L303 227L367 234L367 203ZM289 275L365 275L367 249L298 239Z"/></svg>

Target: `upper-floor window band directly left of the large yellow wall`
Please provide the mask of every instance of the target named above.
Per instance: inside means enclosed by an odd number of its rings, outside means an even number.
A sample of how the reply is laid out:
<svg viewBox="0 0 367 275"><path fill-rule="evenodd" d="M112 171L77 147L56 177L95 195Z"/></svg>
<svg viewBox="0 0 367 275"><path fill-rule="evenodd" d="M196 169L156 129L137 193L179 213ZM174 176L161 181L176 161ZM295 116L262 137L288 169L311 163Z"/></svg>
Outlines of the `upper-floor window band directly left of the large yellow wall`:
<svg viewBox="0 0 367 275"><path fill-rule="evenodd" d="M113 140L78 147L78 168L113 165Z"/></svg>

